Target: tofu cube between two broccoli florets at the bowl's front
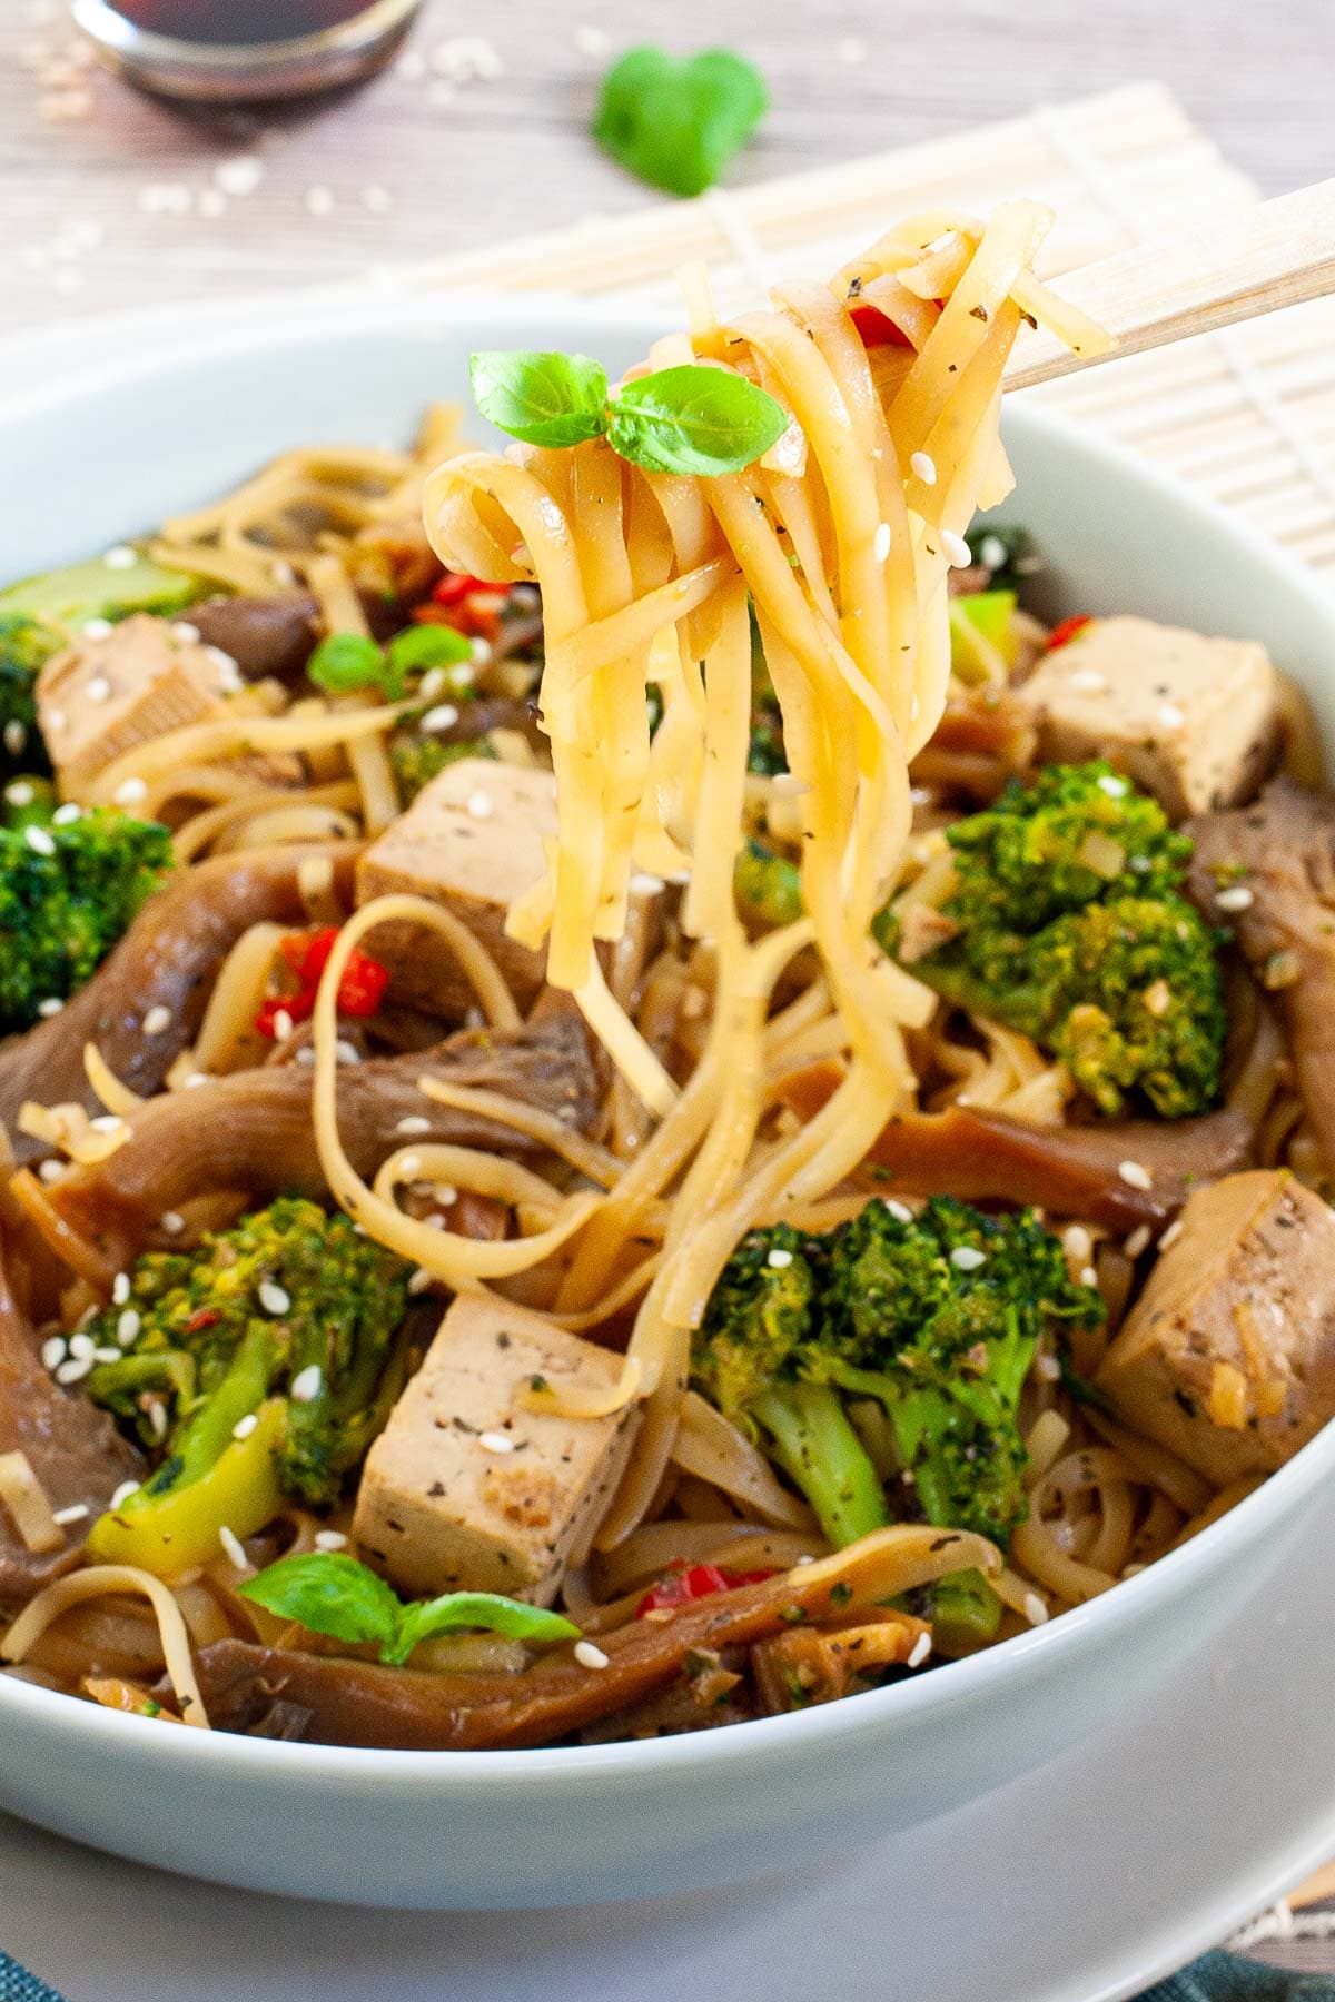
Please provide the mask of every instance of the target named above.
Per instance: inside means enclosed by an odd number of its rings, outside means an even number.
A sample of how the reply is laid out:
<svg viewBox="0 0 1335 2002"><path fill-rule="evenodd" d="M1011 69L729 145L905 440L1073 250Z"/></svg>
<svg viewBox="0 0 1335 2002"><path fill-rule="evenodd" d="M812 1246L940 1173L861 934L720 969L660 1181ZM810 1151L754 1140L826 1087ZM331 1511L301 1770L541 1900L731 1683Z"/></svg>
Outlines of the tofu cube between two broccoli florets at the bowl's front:
<svg viewBox="0 0 1335 2002"><path fill-rule="evenodd" d="M416 1598L504 1592L550 1606L620 1479L638 1411L552 1417L518 1399L532 1377L604 1391L618 1373L620 1355L544 1315L462 1293L366 1457L360 1550Z"/></svg>

